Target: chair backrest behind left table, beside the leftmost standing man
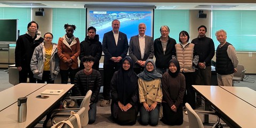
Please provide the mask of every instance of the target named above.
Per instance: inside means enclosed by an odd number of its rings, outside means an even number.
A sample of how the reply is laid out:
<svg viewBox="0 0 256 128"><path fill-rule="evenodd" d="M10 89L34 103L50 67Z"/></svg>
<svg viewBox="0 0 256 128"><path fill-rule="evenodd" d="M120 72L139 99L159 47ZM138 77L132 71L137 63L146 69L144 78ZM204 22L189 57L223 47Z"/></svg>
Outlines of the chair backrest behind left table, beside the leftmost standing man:
<svg viewBox="0 0 256 128"><path fill-rule="evenodd" d="M19 71L17 67L9 67L9 83L13 85L19 84Z"/></svg>

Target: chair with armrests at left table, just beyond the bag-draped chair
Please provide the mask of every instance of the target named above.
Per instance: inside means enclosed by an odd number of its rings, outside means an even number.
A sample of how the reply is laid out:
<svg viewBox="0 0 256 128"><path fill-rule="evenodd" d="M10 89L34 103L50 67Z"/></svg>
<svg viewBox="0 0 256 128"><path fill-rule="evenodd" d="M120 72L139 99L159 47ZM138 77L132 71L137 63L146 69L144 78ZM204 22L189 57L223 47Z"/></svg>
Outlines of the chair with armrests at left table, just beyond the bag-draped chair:
<svg viewBox="0 0 256 128"><path fill-rule="evenodd" d="M65 100L77 100L77 99L83 99L81 105L79 106L79 108L64 108L64 109L55 109L53 110L52 116L51 116L51 121L52 121L52 125L57 123L58 121L62 121L63 119L57 119L56 116L54 116L55 114L62 114L62 115L66 115L66 116L70 116L70 111L78 111L81 108L85 107L85 112L83 117L81 118L81 126L84 127L88 124L89 122L89 105L90 105L90 99L92 96L92 91L89 90L86 95L84 97L68 97ZM65 100L63 102L65 102ZM68 113L69 112L69 113ZM59 114L59 115L60 115ZM54 118L53 118L54 117ZM58 121L57 121L58 120Z"/></svg>

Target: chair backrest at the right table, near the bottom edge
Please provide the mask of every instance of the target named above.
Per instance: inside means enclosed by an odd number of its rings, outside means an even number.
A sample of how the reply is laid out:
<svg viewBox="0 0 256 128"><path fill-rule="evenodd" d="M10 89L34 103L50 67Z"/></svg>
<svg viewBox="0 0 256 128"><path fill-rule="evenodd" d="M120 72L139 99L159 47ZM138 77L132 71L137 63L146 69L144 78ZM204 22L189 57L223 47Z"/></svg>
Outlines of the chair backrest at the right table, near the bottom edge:
<svg viewBox="0 0 256 128"><path fill-rule="evenodd" d="M203 122L201 118L196 114L196 111L191 108L188 103L185 103L187 111L188 111L188 123L189 128L203 128Z"/></svg>

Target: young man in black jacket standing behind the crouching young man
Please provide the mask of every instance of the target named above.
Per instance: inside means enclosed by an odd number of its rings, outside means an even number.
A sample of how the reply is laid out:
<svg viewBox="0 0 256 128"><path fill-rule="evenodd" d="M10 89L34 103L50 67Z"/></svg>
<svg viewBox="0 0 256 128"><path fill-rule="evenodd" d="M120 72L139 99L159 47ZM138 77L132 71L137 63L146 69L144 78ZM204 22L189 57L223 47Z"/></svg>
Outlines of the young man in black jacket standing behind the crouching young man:
<svg viewBox="0 0 256 128"><path fill-rule="evenodd" d="M100 58L102 54L102 45L99 41L99 35L96 34L96 28L89 27L87 29L87 36L85 37L84 41L80 43L81 53L79 55L80 59L80 66L79 69L84 69L83 65L83 58L86 55L92 55L94 58L94 65L92 66L93 69L99 70Z"/></svg>

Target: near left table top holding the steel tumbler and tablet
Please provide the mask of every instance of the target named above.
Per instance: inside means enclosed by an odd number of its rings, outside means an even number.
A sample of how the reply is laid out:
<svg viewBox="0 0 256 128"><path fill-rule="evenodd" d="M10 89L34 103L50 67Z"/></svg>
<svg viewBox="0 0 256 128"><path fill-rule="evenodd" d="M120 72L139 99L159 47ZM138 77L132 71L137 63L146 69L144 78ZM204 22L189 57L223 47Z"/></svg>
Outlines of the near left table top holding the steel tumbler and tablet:
<svg viewBox="0 0 256 128"><path fill-rule="evenodd" d="M34 127L66 96L73 86L74 84L46 84L35 90L27 95L27 120L18 123L18 103L13 103L0 111L0 127ZM37 95L40 95L45 90L63 90L63 92L59 95L48 95L49 98L47 99L36 98Z"/></svg>

